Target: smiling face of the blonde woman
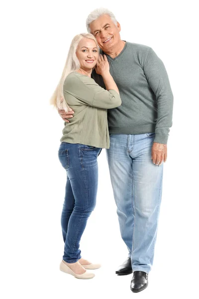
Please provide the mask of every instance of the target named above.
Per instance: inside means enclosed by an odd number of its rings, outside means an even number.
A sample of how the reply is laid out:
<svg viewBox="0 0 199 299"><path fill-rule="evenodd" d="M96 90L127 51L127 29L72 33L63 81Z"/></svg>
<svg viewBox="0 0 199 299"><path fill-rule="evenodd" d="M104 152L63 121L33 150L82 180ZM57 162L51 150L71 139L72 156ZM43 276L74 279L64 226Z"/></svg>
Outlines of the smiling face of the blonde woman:
<svg viewBox="0 0 199 299"><path fill-rule="evenodd" d="M83 37L77 47L76 55L82 69L93 69L97 64L99 57L97 44L93 39Z"/></svg>

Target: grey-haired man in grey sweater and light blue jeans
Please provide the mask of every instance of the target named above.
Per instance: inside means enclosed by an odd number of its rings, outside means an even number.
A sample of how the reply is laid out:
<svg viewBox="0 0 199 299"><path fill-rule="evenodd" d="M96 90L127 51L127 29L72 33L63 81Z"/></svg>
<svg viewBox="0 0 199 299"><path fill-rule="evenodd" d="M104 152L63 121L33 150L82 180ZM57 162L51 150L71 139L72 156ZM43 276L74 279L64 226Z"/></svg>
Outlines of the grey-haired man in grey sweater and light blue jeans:
<svg viewBox="0 0 199 299"><path fill-rule="evenodd" d="M86 23L108 58L122 99L120 107L108 110L106 151L121 237L128 248L116 274L133 271L131 290L140 292L153 264L173 95L162 61L150 47L121 40L112 12L96 9ZM105 88L102 77L95 71L92 75ZM73 117L59 113L66 122Z"/></svg>

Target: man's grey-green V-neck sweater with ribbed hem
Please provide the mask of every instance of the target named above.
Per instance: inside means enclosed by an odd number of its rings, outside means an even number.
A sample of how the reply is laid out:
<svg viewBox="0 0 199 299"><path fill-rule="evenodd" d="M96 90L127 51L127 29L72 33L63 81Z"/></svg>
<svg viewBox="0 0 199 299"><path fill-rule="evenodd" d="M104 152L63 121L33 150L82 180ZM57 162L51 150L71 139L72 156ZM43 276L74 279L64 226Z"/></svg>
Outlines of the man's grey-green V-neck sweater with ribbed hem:
<svg viewBox="0 0 199 299"><path fill-rule="evenodd" d="M154 142L167 144L173 94L161 59L150 47L130 42L115 58L106 56L122 100L121 106L108 110L109 134L155 132ZM95 71L92 78L105 88Z"/></svg>

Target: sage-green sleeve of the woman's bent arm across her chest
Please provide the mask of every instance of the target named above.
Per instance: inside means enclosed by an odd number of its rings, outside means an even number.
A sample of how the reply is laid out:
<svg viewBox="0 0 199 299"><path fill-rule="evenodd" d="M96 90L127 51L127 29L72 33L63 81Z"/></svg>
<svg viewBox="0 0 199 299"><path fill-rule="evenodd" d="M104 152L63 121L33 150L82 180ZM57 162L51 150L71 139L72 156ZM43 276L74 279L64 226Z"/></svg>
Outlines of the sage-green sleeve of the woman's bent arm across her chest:
<svg viewBox="0 0 199 299"><path fill-rule="evenodd" d="M118 93L100 87L94 79L73 74L64 83L64 93L78 98L82 103L103 109L112 109L121 105Z"/></svg>

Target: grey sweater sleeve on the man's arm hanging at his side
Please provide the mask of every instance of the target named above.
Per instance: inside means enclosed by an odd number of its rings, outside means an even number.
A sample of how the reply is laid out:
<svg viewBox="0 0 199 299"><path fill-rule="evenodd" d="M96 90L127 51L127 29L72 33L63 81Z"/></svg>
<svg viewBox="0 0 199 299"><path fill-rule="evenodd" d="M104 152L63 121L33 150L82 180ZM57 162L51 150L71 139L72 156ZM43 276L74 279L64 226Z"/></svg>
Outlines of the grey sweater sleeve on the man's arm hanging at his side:
<svg viewBox="0 0 199 299"><path fill-rule="evenodd" d="M173 94L165 66L151 48L145 59L143 70L157 100L158 118L154 142L167 144L172 126Z"/></svg>

